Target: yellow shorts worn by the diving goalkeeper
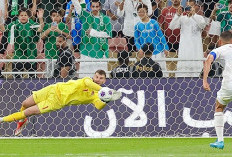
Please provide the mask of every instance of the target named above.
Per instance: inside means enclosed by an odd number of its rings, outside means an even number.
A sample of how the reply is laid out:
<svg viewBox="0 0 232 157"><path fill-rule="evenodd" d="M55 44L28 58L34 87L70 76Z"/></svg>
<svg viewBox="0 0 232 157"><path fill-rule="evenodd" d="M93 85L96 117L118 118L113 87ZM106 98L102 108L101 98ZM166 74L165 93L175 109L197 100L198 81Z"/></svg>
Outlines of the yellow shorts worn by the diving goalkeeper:
<svg viewBox="0 0 232 157"><path fill-rule="evenodd" d="M63 108L57 97L55 85L47 86L41 90L33 91L32 93L41 114Z"/></svg>

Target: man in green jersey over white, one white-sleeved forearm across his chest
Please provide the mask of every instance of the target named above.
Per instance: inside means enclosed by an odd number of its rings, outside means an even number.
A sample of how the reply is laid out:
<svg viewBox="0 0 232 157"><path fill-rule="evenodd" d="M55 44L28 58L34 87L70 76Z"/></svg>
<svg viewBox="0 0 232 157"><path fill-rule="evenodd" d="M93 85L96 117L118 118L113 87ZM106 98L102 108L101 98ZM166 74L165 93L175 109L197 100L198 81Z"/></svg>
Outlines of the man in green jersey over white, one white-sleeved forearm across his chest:
<svg viewBox="0 0 232 157"><path fill-rule="evenodd" d="M103 57L109 57L109 45L108 38L111 37L111 23L110 18L101 11L101 3L99 0L91 1L91 12L82 10L79 1L72 1L75 7L75 11L83 21L82 28L82 42L80 44L81 59L100 59ZM80 73L95 71L99 67L103 70L107 70L107 62L81 62ZM80 74L80 77L86 76L86 74ZM93 74L89 75L93 76Z"/></svg>

